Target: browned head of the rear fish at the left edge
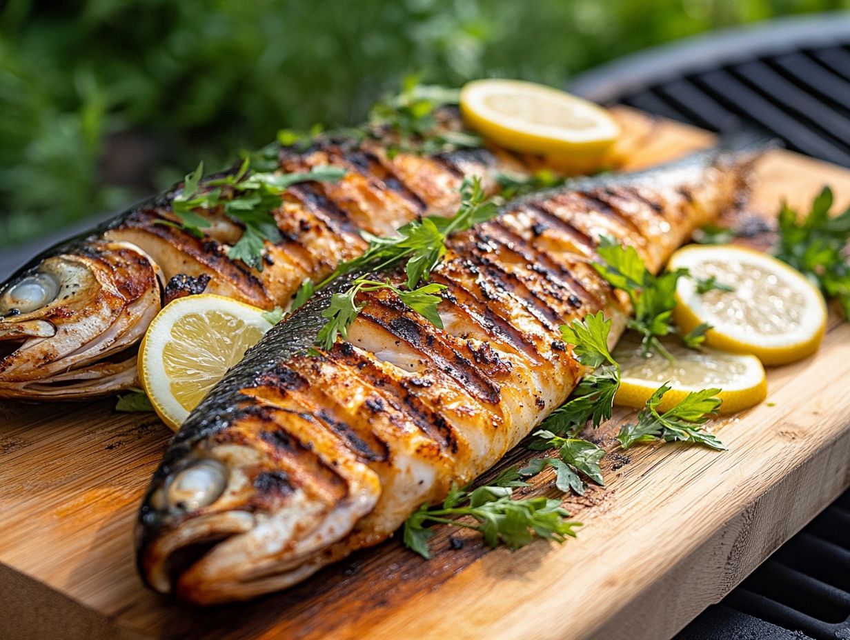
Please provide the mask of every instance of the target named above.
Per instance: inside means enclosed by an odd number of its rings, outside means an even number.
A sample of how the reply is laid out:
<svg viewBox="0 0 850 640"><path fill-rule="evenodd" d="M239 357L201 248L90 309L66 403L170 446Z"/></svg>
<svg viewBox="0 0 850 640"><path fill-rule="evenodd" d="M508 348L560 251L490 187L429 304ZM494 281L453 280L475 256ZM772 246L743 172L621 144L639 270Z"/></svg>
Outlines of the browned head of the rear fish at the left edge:
<svg viewBox="0 0 850 640"><path fill-rule="evenodd" d="M135 380L133 345L161 309L139 247L81 241L0 285L0 398L108 394Z"/></svg>

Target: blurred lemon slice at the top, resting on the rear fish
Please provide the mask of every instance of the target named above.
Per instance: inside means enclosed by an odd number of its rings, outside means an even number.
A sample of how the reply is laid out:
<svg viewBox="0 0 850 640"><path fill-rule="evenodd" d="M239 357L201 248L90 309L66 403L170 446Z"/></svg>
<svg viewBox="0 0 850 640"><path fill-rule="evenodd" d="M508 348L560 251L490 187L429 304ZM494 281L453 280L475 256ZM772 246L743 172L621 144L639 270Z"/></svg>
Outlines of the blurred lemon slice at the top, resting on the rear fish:
<svg viewBox="0 0 850 640"><path fill-rule="evenodd" d="M475 80L461 89L470 127L506 149L541 154L564 170L599 167L620 133L592 102L534 82Z"/></svg>

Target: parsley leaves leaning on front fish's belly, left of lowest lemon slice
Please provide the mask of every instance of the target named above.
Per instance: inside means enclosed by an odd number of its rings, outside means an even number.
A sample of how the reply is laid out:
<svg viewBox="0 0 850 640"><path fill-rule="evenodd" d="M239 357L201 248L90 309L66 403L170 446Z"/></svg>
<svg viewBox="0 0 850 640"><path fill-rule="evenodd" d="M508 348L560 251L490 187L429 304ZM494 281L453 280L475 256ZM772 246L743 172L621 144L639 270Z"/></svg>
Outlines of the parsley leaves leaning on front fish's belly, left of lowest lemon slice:
<svg viewBox="0 0 850 640"><path fill-rule="evenodd" d="M611 417L614 396L620 388L620 365L608 348L610 331L611 320L605 320L601 311L561 326L564 342L573 345L575 359L595 371L584 377L570 399L543 421L544 429L558 435L575 435L588 420L598 427Z"/></svg>

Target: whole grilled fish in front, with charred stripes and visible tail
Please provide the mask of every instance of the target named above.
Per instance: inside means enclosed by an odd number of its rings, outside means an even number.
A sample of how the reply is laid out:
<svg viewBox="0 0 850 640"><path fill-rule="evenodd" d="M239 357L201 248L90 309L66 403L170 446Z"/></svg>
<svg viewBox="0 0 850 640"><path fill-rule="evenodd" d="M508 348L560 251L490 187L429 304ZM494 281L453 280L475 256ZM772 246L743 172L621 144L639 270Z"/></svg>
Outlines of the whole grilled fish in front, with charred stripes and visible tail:
<svg viewBox="0 0 850 640"><path fill-rule="evenodd" d="M336 289L318 293L175 435L139 512L144 581L203 604L292 586L483 473L587 373L558 326L600 309L612 341L626 325L591 266L600 236L660 269L734 203L751 160L707 152L503 207L433 271L443 329L384 289L358 297L347 342L315 349Z"/></svg>

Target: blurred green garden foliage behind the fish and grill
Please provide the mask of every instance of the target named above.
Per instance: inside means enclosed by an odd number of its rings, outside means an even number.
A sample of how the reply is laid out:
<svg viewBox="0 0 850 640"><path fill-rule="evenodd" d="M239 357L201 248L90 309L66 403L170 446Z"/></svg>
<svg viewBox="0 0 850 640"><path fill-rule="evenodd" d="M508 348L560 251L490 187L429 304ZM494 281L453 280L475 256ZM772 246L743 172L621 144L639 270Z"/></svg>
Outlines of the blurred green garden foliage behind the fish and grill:
<svg viewBox="0 0 850 640"><path fill-rule="evenodd" d="M410 71L564 85L700 31L847 0L0 3L0 246L122 207L280 127L360 122Z"/></svg>

